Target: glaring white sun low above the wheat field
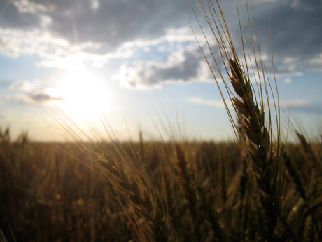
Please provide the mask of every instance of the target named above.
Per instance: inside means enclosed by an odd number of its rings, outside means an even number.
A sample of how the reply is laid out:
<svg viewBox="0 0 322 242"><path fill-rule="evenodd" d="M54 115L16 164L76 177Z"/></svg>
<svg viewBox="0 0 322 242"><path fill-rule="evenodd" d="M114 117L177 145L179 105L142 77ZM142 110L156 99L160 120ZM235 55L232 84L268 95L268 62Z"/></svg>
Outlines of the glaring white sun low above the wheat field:
<svg viewBox="0 0 322 242"><path fill-rule="evenodd" d="M106 82L88 72L64 75L50 92L57 97L55 105L69 116L93 120L111 109L111 93Z"/></svg>

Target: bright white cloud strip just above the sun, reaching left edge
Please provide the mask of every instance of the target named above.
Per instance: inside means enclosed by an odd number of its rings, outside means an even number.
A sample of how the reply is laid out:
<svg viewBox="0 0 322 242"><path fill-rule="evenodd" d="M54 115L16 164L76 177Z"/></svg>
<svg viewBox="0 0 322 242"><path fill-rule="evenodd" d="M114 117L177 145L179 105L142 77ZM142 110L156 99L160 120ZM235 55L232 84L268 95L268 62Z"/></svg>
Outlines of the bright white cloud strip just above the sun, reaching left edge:
<svg viewBox="0 0 322 242"><path fill-rule="evenodd" d="M37 38L35 38L37 36ZM110 55L97 55L89 51L99 48L99 44L87 42L73 45L65 39L52 36L49 32L0 29L0 51L12 57L22 54L38 55L40 67L79 69L89 62L107 62ZM129 55L123 53L123 55Z"/></svg>

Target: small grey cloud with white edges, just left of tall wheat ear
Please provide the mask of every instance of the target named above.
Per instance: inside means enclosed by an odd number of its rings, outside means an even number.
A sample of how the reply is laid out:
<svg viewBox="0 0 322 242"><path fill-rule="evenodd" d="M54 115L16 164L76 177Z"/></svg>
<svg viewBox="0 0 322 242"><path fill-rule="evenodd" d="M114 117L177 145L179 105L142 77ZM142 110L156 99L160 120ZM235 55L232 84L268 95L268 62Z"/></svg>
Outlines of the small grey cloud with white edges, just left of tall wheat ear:
<svg viewBox="0 0 322 242"><path fill-rule="evenodd" d="M164 51L165 48L155 50L160 54ZM126 62L112 78L128 88L160 87L163 83L214 81L199 46L191 43L178 43L165 60Z"/></svg>

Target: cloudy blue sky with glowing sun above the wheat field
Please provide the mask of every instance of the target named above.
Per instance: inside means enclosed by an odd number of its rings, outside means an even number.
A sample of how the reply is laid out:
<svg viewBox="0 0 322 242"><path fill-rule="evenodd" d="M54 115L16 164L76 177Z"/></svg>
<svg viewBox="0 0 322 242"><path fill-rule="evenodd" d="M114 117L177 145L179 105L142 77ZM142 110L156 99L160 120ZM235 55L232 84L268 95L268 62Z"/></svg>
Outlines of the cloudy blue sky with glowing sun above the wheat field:
<svg viewBox="0 0 322 242"><path fill-rule="evenodd" d="M220 2L242 53L236 1ZM321 127L322 1L253 0L253 9L271 77L273 49L283 123ZM0 127L38 141L68 138L65 122L85 134L111 126L120 140L139 130L146 140L233 139L187 16L205 48L188 0L0 0Z"/></svg>

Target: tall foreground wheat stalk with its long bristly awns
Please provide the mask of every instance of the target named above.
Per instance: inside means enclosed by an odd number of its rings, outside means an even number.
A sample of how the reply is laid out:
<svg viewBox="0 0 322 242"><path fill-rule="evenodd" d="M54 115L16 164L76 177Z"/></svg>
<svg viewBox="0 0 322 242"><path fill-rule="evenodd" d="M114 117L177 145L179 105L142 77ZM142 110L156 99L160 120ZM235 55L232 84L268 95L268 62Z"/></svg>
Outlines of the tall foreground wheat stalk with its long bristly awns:
<svg viewBox="0 0 322 242"><path fill-rule="evenodd" d="M211 33L214 35L212 37L216 40L214 42L216 43L217 49L215 50L213 47L214 43L207 37L200 19L197 18L195 10L193 11L204 35L206 47L202 46L195 32L194 34L221 93L239 144L248 150L247 161L257 183L262 207L267 217L267 239L274 241L274 228L281 210L281 197L283 193L283 182L280 173L283 149L279 130L279 99L277 87L275 94L277 95L277 100L274 99L274 92L262 63L258 38L256 40L253 39L253 32L257 36L253 5L250 4L248 6L248 1L246 0L245 2L252 50L249 51L246 43L244 43L245 39L241 29L237 1L237 13L243 51L241 56L243 60L237 54L228 24L218 0L214 1L214 3L211 0L205 0L203 3L201 0L196 0L204 20L206 20ZM206 49L210 55L207 55ZM218 51L219 55L217 55L216 51ZM254 63L251 61L251 58L255 60ZM222 71L222 69L225 69L225 71ZM257 86L253 86L250 76L253 76L253 81L257 83ZM223 81L225 86L224 89L220 86L221 81ZM269 93L272 93L274 100L274 115L269 106ZM230 110L230 104L225 100L225 95L228 95L235 114ZM266 111L265 105L267 105ZM265 112L268 113L267 120L265 120ZM233 118L235 115L237 116L237 121ZM276 117L276 141L274 142L272 138L273 116ZM238 127L238 123L241 128Z"/></svg>

